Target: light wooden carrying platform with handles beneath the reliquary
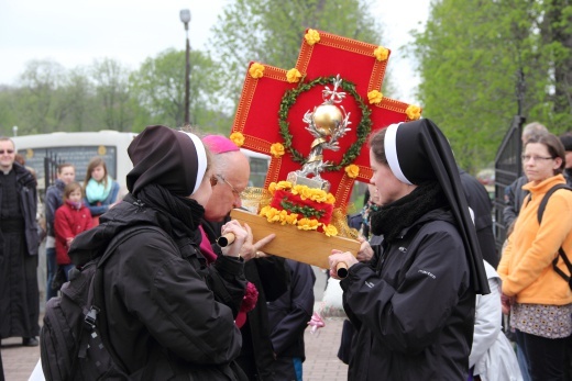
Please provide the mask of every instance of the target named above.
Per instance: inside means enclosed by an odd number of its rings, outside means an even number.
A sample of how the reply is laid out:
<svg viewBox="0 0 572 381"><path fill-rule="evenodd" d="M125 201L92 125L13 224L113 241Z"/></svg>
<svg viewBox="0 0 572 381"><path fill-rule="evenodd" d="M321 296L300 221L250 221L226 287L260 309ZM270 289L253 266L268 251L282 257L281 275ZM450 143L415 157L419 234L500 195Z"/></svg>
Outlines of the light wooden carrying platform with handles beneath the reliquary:
<svg viewBox="0 0 572 381"><path fill-rule="evenodd" d="M350 251L353 256L356 256L361 246L359 240L328 237L323 233L300 231L293 225L270 223L264 217L238 209L232 210L230 216L241 224L249 224L252 228L254 242L268 234L276 234L276 238L261 248L262 251L322 269L330 268L328 257L332 249Z"/></svg>

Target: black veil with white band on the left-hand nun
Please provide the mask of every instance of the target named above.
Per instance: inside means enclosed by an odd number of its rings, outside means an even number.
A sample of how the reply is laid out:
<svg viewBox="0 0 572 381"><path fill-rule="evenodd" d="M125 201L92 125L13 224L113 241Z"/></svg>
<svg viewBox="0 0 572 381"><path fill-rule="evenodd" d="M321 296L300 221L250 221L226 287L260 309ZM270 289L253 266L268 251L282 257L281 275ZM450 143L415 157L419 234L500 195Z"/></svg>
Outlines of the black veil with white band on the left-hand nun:
<svg viewBox="0 0 572 381"><path fill-rule="evenodd" d="M200 138L163 125L145 127L128 148L133 169L129 191L136 197L146 184L162 186L175 195L189 197L202 182L207 154Z"/></svg>

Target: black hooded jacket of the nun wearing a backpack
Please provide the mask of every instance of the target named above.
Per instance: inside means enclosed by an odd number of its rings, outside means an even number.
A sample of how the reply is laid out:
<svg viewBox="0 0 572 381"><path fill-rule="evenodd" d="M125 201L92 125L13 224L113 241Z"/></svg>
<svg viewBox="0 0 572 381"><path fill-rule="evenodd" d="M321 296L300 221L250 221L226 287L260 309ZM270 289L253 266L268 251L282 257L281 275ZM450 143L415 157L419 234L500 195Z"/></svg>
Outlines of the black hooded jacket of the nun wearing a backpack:
<svg viewBox="0 0 572 381"><path fill-rule="evenodd" d="M105 265L105 313L111 345L133 380L240 380L241 348L234 317L244 295L243 262L221 256L210 267L195 237L182 237L164 213L128 194L76 237L73 251L100 253L131 226L155 225L128 238ZM176 238L179 237L179 238ZM77 264L77 257L73 257ZM223 284L226 305L210 289Z"/></svg>

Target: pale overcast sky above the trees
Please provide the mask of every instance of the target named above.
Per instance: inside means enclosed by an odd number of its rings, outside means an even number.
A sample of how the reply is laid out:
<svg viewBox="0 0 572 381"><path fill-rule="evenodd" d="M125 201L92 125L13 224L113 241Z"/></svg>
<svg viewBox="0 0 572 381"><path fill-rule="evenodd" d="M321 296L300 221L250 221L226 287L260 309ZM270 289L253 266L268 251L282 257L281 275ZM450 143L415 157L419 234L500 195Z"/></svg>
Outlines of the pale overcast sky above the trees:
<svg viewBox="0 0 572 381"><path fill-rule="evenodd" d="M279 0L276 0L279 1ZM13 85L32 59L52 59L70 69L113 58L132 69L170 47L185 47L179 10L189 9L191 48L202 49L210 27L229 0L0 0L0 83ZM427 19L427 0L377 0L392 49L388 67L399 83L391 98L415 102L418 83L400 46ZM400 53L402 51L402 53ZM271 64L272 63L267 63Z"/></svg>

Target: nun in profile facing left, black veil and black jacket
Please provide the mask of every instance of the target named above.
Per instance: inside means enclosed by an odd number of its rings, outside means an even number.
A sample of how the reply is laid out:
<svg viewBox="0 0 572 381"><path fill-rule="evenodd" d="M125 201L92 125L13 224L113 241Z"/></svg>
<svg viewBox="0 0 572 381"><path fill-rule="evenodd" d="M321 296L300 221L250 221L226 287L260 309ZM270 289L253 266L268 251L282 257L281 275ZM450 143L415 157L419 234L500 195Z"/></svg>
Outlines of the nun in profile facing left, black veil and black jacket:
<svg viewBox="0 0 572 381"><path fill-rule="evenodd" d="M466 380L475 294L488 293L476 233L451 147L435 123L393 124L370 138L370 180L383 235L359 262L333 250L330 273L356 328L348 379Z"/></svg>

